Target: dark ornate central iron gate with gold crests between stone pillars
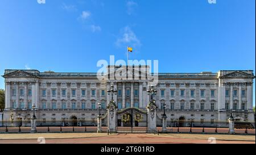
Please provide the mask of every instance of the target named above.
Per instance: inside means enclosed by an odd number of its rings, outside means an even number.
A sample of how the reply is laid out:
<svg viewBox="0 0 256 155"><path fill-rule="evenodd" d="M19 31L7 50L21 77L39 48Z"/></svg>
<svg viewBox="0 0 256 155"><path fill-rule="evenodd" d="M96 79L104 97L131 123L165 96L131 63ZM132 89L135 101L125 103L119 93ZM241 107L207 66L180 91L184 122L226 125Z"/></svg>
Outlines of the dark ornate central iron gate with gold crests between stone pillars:
<svg viewBox="0 0 256 155"><path fill-rule="evenodd" d="M129 108L117 111L117 132L119 133L146 133L147 111Z"/></svg>

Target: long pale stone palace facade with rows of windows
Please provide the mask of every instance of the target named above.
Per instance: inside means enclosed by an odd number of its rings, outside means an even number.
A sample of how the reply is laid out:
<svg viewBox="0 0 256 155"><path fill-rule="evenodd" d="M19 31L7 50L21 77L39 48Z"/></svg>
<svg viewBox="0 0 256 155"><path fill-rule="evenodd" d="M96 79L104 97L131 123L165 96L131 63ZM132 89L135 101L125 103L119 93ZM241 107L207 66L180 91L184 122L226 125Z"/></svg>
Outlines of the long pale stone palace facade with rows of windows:
<svg viewBox="0 0 256 155"><path fill-rule="evenodd" d="M139 70L142 67L139 66ZM118 67L115 67L118 68ZM127 67L133 74L133 67ZM128 72L130 73L130 72ZM143 74L139 71L139 74ZM107 74L106 76L108 76ZM5 110L2 126L30 126L36 106L38 126L75 119L77 126L97 122L98 103L106 113L110 100L107 90L117 90L114 100L118 110L134 107L146 111L150 100L147 79L98 79L96 73L40 72L38 70L5 70ZM159 73L158 91L154 96L157 116L161 118L166 104L167 126L183 121L184 126L228 126L233 113L236 121L254 123L252 70L220 70L217 73ZM102 122L104 124L104 122ZM0 125L1 125L0 124ZM161 126L160 119L158 125Z"/></svg>

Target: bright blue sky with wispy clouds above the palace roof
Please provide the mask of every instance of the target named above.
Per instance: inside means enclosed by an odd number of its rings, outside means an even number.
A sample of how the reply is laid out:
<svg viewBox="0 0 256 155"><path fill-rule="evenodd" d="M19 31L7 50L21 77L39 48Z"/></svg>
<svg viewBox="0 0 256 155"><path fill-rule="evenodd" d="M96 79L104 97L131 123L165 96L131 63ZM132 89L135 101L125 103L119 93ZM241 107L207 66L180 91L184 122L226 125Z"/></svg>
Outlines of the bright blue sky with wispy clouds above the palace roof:
<svg viewBox="0 0 256 155"><path fill-rule="evenodd" d="M126 60L127 45L159 72L255 71L255 0L216 2L1 0L0 74L96 72L109 55Z"/></svg>

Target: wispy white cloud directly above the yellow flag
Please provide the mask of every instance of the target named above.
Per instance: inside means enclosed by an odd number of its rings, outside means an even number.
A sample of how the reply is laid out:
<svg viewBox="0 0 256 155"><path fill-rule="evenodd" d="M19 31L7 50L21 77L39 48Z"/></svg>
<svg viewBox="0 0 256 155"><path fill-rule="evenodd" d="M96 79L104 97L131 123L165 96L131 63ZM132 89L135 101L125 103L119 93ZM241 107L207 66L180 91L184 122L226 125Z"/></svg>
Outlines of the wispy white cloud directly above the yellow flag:
<svg viewBox="0 0 256 155"><path fill-rule="evenodd" d="M137 38L135 33L131 30L129 26L121 29L121 35L115 41L117 46L141 46L141 41Z"/></svg>

